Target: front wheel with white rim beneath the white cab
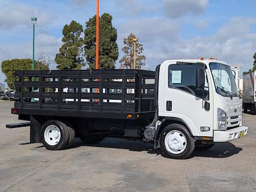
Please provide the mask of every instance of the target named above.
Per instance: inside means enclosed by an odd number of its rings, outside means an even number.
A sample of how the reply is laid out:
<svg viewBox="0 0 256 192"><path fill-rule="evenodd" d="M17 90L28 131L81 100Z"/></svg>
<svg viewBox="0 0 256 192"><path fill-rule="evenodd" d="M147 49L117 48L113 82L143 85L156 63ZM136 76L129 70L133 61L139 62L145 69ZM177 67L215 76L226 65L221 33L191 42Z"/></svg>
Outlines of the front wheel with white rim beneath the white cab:
<svg viewBox="0 0 256 192"><path fill-rule="evenodd" d="M195 141L186 127L171 124L165 127L160 134L160 148L166 157L187 159L194 151Z"/></svg>

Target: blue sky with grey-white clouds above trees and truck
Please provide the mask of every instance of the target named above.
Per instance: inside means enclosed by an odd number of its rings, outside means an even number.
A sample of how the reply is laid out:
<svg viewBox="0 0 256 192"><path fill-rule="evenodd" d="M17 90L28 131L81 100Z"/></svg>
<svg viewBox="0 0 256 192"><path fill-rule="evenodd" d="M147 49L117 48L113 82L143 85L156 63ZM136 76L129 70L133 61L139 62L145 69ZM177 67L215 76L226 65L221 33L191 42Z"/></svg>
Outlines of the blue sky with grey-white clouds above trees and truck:
<svg viewBox="0 0 256 192"><path fill-rule="evenodd" d="M52 60L62 45L62 29L76 20L83 26L95 15L95 0L0 0L0 63L32 58L32 23L37 17L35 58ZM100 14L113 15L119 60L123 38L134 33L143 44L145 67L172 59L217 58L253 66L256 52L255 0L100 0ZM53 63L50 68L55 69ZM0 72L0 82L5 76Z"/></svg>

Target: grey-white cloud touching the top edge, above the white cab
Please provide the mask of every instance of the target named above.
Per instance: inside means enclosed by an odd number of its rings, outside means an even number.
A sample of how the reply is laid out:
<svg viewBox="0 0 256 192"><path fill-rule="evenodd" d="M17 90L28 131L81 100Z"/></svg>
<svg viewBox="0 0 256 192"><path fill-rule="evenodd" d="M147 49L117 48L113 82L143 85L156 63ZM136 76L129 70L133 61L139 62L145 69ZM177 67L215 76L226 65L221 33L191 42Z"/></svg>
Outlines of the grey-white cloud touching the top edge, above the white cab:
<svg viewBox="0 0 256 192"><path fill-rule="evenodd" d="M163 9L167 17L178 18L188 13L204 13L207 4L208 0L163 0Z"/></svg>

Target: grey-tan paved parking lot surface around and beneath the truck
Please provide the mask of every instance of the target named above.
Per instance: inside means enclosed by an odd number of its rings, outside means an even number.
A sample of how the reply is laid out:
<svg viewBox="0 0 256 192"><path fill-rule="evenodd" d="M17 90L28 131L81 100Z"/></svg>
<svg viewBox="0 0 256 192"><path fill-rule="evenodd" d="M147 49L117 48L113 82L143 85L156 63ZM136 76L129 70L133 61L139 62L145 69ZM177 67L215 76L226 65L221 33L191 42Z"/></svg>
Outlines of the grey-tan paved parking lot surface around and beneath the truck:
<svg viewBox="0 0 256 192"><path fill-rule="evenodd" d="M0 102L0 191L256 191L256 115L243 114L245 138L176 160L117 138L46 150L29 143L29 127L5 128L21 122L12 106Z"/></svg>

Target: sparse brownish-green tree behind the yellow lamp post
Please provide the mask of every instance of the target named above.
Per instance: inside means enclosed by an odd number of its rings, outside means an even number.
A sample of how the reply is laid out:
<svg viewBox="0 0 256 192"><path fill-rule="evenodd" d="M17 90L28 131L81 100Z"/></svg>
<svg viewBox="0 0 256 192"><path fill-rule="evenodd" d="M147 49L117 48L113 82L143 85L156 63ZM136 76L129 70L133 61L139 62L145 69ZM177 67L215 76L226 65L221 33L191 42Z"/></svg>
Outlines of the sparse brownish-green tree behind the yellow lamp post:
<svg viewBox="0 0 256 192"><path fill-rule="evenodd" d="M136 39L136 68L142 68L145 65L146 57L142 54L144 51L143 44L140 44L138 38L131 33L123 39L123 57L120 60L120 68L134 68L134 39Z"/></svg>

